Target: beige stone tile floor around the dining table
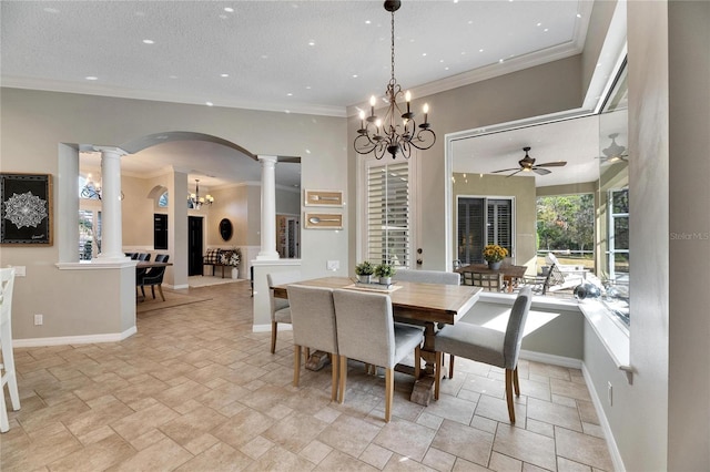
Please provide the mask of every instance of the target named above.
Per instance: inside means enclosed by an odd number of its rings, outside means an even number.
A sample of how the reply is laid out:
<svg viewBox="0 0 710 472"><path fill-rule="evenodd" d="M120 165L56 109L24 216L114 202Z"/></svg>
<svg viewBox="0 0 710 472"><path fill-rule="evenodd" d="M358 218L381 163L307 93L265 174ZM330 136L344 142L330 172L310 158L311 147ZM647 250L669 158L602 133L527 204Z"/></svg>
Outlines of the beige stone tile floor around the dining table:
<svg viewBox="0 0 710 472"><path fill-rule="evenodd" d="M612 470L579 370L521 361L515 427L498 369L457 359L428 407L398 373L385 423L384 379L357 362L344 404L329 367L291 384L291 332L271 355L248 284L190 291L211 299L140 315L122 342L16 349L22 409L0 470Z"/></svg>

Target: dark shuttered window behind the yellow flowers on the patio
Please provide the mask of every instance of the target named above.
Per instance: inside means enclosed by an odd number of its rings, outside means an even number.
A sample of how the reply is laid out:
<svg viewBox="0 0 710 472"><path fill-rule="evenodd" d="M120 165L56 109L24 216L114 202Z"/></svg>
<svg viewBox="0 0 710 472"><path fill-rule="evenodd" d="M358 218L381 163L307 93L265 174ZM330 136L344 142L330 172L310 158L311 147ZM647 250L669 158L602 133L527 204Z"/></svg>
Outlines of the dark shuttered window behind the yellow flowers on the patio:
<svg viewBox="0 0 710 472"><path fill-rule="evenodd" d="M458 260L480 264L487 244L497 244L513 256L513 198L458 198Z"/></svg>

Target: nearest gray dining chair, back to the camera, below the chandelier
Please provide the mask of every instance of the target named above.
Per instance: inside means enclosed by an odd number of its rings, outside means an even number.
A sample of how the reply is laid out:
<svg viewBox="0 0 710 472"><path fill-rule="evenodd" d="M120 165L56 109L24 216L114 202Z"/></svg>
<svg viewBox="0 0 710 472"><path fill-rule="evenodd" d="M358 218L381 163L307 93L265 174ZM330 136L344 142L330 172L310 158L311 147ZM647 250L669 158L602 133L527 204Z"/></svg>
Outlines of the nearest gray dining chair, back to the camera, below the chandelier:
<svg viewBox="0 0 710 472"><path fill-rule="evenodd" d="M389 295L348 289L333 290L339 355L338 401L345 401L347 359L385 369L385 421L392 418L394 368L414 351L415 379L419 377L422 328L394 322Z"/></svg>

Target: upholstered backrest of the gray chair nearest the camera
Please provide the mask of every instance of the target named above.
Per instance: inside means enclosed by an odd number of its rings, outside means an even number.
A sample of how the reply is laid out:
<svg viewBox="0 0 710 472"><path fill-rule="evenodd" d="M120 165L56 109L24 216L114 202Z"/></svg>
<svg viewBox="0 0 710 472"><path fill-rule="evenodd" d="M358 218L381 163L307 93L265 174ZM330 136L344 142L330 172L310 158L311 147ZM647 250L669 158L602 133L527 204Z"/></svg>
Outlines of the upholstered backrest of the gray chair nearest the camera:
<svg viewBox="0 0 710 472"><path fill-rule="evenodd" d="M389 295L333 290L338 353L392 369L395 366L395 332Z"/></svg>

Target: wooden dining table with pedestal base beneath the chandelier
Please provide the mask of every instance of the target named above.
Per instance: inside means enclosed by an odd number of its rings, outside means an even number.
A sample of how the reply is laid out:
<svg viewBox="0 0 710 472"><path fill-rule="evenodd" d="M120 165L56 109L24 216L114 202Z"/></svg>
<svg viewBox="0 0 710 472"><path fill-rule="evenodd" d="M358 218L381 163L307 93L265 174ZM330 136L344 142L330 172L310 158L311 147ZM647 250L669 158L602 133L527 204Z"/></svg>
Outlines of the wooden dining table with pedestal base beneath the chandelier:
<svg viewBox="0 0 710 472"><path fill-rule="evenodd" d="M434 387L434 366L436 362L434 340L438 326L456 324L476 304L481 291L480 287L403 280L396 280L388 288L382 288L374 284L357 284L348 277L321 277L294 284L385 293L392 299L396 321L423 326L422 358L426 361L426 367L422 369L419 378L415 380L409 399L424 406L429 403ZM274 297L288 298L287 287L288 285L278 285L271 288L274 290ZM414 368L410 366L397 366L396 370L414 374Z"/></svg>

